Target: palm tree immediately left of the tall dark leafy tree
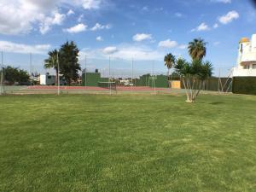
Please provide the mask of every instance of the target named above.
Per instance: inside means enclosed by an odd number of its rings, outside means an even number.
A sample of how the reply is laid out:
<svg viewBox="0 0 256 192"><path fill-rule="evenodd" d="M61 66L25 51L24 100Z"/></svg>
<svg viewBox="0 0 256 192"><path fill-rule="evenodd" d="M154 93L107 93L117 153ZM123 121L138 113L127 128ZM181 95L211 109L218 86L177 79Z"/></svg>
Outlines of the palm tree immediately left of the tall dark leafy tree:
<svg viewBox="0 0 256 192"><path fill-rule="evenodd" d="M44 68L54 68L55 69L55 84L58 82L58 54L59 51L57 49L54 49L53 51L49 51L48 55L49 58L44 60Z"/></svg>

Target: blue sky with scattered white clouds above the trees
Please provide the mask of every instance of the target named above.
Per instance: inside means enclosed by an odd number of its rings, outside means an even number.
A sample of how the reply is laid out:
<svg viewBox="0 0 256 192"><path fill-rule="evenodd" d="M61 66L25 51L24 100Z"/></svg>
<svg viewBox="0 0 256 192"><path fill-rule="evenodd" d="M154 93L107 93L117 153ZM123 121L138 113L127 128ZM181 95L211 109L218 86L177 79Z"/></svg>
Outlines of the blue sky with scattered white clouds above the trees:
<svg viewBox="0 0 256 192"><path fill-rule="evenodd" d="M250 0L0 0L3 64L44 73L52 49L73 40L82 67L166 72L164 55L190 60L187 44L207 42L214 73L236 66L239 40L256 33Z"/></svg>

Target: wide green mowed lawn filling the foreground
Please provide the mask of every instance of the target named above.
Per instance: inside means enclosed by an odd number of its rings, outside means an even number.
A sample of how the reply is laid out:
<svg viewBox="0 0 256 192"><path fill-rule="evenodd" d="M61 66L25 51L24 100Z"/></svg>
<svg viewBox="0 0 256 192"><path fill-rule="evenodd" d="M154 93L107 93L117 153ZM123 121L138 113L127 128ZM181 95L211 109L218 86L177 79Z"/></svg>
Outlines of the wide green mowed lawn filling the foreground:
<svg viewBox="0 0 256 192"><path fill-rule="evenodd" d="M256 96L1 96L0 191L256 191Z"/></svg>

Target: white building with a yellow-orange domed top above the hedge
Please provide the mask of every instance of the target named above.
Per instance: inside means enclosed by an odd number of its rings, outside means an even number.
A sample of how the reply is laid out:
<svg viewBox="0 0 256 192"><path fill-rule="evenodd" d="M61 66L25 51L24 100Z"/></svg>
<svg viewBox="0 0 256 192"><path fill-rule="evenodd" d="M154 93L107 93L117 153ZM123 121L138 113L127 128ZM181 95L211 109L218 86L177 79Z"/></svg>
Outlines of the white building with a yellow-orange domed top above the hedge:
<svg viewBox="0 0 256 192"><path fill-rule="evenodd" d="M239 42L237 67L233 69L234 77L256 77L256 34L253 38L241 38Z"/></svg>

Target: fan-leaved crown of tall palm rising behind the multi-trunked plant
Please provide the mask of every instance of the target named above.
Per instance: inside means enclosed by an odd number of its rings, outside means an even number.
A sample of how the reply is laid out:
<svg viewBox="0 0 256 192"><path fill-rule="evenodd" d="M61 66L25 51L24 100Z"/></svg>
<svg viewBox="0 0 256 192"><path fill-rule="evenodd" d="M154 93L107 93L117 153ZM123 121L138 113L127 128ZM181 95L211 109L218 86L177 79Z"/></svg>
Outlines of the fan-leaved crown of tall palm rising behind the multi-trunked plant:
<svg viewBox="0 0 256 192"><path fill-rule="evenodd" d="M192 42L189 42L189 55L192 60L202 60L207 55L207 43L204 39L195 38Z"/></svg>

